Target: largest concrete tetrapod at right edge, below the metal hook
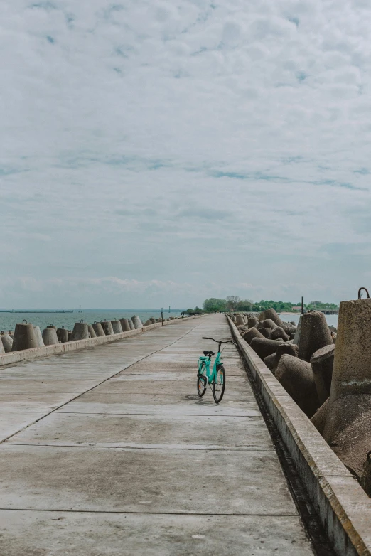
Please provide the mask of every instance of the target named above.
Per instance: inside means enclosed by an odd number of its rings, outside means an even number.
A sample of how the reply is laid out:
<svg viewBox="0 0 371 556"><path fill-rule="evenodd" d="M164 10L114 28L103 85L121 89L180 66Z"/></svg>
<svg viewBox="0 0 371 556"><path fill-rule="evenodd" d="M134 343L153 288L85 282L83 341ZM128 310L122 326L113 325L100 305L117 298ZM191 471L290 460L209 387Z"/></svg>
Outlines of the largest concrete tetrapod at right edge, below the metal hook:
<svg viewBox="0 0 371 556"><path fill-rule="evenodd" d="M323 437L361 483L371 449L371 299L340 303Z"/></svg>

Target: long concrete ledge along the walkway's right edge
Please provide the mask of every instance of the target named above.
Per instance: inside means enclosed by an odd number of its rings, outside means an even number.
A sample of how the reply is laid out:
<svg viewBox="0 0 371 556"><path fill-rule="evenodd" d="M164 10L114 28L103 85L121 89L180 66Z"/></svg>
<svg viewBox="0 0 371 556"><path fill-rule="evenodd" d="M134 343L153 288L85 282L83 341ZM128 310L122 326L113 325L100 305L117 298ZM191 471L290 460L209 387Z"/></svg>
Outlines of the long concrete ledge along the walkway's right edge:
<svg viewBox="0 0 371 556"><path fill-rule="evenodd" d="M249 372L339 556L371 554L371 499L227 317Z"/></svg>

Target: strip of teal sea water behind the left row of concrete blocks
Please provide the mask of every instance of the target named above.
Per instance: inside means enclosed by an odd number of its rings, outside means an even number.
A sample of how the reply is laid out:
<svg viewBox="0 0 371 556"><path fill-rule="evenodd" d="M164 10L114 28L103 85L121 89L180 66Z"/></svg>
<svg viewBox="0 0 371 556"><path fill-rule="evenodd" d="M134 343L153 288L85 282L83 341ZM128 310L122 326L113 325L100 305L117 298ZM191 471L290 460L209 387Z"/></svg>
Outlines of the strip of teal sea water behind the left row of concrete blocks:
<svg viewBox="0 0 371 556"><path fill-rule="evenodd" d="M169 316L178 316L184 309L173 309L169 313L163 311L163 318L167 319ZM132 316L138 315L143 322L146 322L151 316L155 319L161 318L161 309L85 309L79 313L78 310L73 313L1 313L0 312L0 331L14 330L18 322L26 319L36 326L40 326L41 331L49 324L54 324L58 328L64 326L67 330L72 330L75 322L87 322L93 324L95 321L100 322L107 319L113 321L114 319L131 319Z"/></svg>

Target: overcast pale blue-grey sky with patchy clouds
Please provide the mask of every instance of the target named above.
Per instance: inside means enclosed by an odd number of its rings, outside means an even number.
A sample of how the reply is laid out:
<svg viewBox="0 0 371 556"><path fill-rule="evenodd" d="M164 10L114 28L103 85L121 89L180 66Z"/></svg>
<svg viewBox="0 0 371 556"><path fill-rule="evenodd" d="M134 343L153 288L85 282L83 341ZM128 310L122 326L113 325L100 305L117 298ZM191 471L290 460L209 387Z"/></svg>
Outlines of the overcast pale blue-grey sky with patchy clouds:
<svg viewBox="0 0 371 556"><path fill-rule="evenodd" d="M0 306L371 286L369 0L2 0Z"/></svg>

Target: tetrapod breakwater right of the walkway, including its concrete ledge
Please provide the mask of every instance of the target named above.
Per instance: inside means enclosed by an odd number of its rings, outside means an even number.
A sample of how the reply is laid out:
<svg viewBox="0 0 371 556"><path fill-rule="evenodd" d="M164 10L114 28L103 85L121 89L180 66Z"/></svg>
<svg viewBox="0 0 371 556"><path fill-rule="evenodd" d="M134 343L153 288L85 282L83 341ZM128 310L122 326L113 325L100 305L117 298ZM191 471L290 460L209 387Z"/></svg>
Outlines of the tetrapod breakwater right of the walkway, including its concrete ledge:
<svg viewBox="0 0 371 556"><path fill-rule="evenodd" d="M336 552L369 555L371 299L340 304L337 336L318 311L291 330L272 309L230 319Z"/></svg>

